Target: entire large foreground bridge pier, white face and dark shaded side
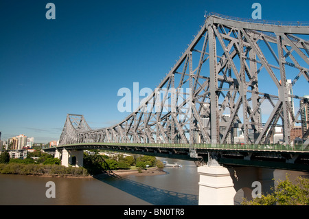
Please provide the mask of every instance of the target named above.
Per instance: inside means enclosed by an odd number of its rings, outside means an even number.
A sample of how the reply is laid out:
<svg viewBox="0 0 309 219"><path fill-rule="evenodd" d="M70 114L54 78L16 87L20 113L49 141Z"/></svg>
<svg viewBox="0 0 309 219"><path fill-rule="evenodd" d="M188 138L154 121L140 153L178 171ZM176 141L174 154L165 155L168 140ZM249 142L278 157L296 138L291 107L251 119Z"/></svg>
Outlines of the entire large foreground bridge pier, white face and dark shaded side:
<svg viewBox="0 0 309 219"><path fill-rule="evenodd" d="M244 198L249 200L253 195L258 195L252 194L253 189L262 194L270 193L274 186L274 170L257 167L226 168L218 163L216 154L209 154L207 165L198 167L198 205L234 205L234 198L240 189L244 192Z"/></svg>

